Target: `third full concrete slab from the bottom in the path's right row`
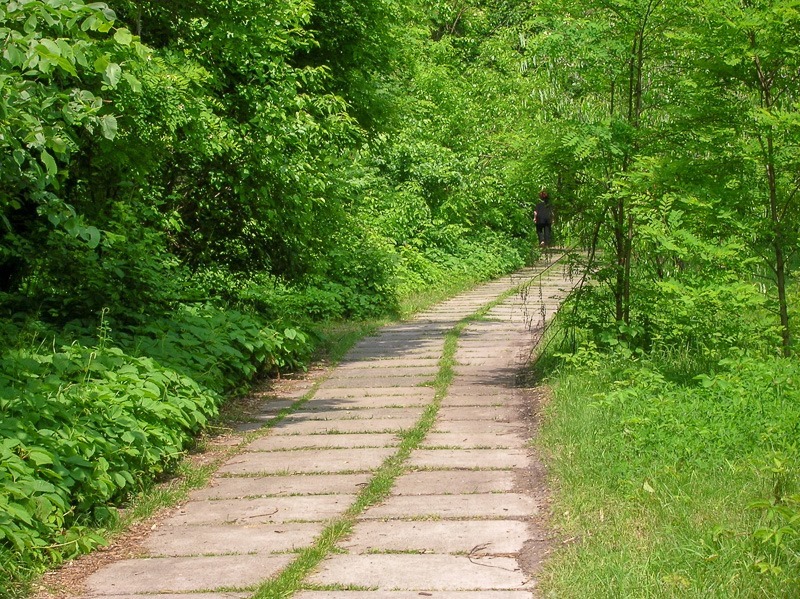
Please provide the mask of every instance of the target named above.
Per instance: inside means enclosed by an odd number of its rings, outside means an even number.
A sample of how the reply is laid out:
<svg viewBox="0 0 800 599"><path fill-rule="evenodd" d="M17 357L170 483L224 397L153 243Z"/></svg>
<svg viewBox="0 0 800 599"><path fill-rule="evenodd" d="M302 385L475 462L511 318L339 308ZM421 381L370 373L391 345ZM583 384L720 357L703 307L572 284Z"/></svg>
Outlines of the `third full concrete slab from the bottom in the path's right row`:
<svg viewBox="0 0 800 599"><path fill-rule="evenodd" d="M394 495L366 510L362 520L391 518L529 518L539 513L536 501L519 493L473 495Z"/></svg>

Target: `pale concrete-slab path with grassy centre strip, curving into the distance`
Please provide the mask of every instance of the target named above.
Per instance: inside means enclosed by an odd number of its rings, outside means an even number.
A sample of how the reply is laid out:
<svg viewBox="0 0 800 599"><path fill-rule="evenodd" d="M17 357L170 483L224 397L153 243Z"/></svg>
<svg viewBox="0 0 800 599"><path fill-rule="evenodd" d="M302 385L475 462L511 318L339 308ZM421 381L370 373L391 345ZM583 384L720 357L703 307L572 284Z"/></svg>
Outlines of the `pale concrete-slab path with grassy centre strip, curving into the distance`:
<svg viewBox="0 0 800 599"><path fill-rule="evenodd" d="M363 339L86 599L530 599L539 511L517 385L577 284L558 252ZM302 393L302 391L300 392Z"/></svg>

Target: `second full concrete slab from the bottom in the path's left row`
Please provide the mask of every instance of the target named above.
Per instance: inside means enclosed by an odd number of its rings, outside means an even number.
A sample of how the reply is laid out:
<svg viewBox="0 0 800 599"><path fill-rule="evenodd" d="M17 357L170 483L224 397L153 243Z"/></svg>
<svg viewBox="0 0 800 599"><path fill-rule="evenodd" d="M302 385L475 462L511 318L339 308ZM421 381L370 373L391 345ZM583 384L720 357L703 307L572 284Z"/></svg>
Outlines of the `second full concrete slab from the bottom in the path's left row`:
<svg viewBox="0 0 800 599"><path fill-rule="evenodd" d="M287 553L311 545L324 527L323 522L161 526L143 546L154 557Z"/></svg>

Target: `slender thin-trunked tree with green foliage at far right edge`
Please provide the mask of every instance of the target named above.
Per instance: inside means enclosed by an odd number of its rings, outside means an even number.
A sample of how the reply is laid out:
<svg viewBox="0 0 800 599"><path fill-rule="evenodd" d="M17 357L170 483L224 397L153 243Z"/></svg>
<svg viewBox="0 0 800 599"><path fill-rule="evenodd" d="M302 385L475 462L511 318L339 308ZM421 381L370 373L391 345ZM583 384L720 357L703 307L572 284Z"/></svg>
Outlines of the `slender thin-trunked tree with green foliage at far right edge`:
<svg viewBox="0 0 800 599"><path fill-rule="evenodd" d="M699 85L719 91L719 101L738 108L729 142L754 166L742 181L739 212L771 272L782 352L788 355L787 286L800 225L800 7L790 0L707 1L698 4L695 17L692 42L708 68L694 75ZM731 124L718 127L732 132Z"/></svg>

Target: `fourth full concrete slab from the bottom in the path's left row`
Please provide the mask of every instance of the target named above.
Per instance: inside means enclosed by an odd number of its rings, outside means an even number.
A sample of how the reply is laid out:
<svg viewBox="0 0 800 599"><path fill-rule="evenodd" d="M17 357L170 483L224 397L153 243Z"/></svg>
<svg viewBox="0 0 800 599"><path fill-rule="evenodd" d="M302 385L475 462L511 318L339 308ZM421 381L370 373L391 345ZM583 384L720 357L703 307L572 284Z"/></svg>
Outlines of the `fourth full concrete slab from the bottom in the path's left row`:
<svg viewBox="0 0 800 599"><path fill-rule="evenodd" d="M214 477L204 489L192 491L190 500L244 499L287 495L347 495L361 490L370 479L358 474L296 474L289 476Z"/></svg>

